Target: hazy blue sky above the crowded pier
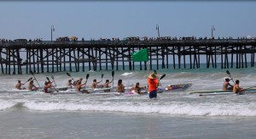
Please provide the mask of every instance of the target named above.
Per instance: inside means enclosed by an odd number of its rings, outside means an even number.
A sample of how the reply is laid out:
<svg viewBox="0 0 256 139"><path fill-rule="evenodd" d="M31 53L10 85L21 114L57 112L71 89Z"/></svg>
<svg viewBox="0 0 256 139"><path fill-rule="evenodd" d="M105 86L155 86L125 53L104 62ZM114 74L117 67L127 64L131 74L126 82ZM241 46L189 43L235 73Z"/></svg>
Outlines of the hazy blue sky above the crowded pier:
<svg viewBox="0 0 256 139"><path fill-rule="evenodd" d="M0 38L256 36L253 1L1 1Z"/></svg>

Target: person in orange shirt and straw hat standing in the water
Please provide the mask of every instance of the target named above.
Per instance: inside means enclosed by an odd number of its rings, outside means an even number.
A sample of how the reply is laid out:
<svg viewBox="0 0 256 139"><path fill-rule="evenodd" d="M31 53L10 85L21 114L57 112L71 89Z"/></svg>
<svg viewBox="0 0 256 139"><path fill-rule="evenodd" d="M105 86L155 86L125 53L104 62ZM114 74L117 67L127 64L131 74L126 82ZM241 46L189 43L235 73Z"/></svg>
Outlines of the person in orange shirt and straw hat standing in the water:
<svg viewBox="0 0 256 139"><path fill-rule="evenodd" d="M148 75L148 91L149 91L149 98L155 99L157 97L157 87L159 86L159 81L156 75L153 73Z"/></svg>

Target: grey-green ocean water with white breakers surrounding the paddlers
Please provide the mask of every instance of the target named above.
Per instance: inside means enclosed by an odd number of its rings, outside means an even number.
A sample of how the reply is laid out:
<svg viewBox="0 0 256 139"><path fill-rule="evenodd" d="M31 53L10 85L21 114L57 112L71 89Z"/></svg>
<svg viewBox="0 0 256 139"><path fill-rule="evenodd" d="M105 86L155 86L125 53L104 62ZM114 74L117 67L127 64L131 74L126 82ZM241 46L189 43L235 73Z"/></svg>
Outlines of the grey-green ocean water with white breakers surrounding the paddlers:
<svg viewBox="0 0 256 139"><path fill-rule="evenodd" d="M222 88L227 69L159 69L162 86L193 83L189 89L148 95L26 94L0 92L0 138L256 138L256 93L199 97L189 92ZM241 87L256 86L255 68L229 69ZM88 84L111 80L111 70L71 72ZM153 71L149 71L153 72ZM102 78L103 74L103 78ZM54 75L66 86L66 72L35 74L39 84ZM125 86L146 86L147 71L114 71ZM0 91L32 75L0 75ZM102 78L102 79L101 79ZM232 81L230 81L233 84ZM35 82L35 84L37 84ZM25 85L27 86L27 84Z"/></svg>

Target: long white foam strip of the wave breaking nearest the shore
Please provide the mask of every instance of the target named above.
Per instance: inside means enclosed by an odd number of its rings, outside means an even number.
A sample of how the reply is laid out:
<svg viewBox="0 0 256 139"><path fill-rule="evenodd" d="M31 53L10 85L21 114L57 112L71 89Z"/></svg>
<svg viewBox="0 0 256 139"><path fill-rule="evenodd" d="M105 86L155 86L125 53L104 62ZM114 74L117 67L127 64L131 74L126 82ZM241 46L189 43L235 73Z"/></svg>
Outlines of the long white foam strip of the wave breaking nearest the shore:
<svg viewBox="0 0 256 139"><path fill-rule="evenodd" d="M248 104L247 104L248 105ZM193 116L256 116L256 103L252 107L236 106L235 103L25 103L26 108L34 110L67 110L67 111L108 111L138 114L171 114Z"/></svg>

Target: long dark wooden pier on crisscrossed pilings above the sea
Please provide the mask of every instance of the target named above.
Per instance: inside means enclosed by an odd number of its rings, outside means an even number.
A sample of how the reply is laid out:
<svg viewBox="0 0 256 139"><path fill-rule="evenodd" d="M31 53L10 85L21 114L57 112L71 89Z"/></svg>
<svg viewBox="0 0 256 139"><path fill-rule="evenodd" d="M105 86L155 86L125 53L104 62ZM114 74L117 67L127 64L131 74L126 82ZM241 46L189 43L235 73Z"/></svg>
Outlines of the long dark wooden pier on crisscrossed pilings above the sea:
<svg viewBox="0 0 256 139"><path fill-rule="evenodd" d="M219 63L221 69L239 69L254 67L255 47L256 39L0 42L0 72L135 70L137 64L139 70L153 69L153 65L199 69L202 61L207 68L218 68ZM133 62L131 53L143 48L148 48L148 62Z"/></svg>

